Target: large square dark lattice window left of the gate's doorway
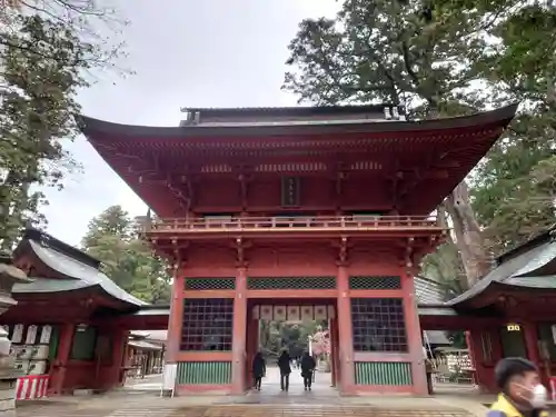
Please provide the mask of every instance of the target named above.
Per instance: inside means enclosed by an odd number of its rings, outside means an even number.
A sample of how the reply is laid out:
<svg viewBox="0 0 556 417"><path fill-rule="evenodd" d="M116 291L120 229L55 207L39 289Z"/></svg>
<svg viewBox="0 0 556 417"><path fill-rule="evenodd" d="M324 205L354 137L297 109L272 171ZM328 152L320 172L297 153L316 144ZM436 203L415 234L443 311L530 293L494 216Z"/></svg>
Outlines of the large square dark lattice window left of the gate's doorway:
<svg viewBox="0 0 556 417"><path fill-rule="evenodd" d="M181 350L231 350L232 298L183 300Z"/></svg>

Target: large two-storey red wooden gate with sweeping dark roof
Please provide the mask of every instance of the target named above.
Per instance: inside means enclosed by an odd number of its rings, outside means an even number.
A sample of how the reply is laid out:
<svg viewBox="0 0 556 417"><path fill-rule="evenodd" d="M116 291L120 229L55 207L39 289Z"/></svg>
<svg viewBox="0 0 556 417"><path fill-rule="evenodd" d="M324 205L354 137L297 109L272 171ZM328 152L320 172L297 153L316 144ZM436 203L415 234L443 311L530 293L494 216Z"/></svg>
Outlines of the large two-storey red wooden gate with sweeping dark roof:
<svg viewBox="0 0 556 417"><path fill-rule="evenodd" d="M391 106L189 109L170 128L81 118L156 214L145 238L175 264L177 391L245 393L258 320L297 318L329 320L341 394L427 394L413 277L447 234L431 212L515 111L409 122Z"/></svg>

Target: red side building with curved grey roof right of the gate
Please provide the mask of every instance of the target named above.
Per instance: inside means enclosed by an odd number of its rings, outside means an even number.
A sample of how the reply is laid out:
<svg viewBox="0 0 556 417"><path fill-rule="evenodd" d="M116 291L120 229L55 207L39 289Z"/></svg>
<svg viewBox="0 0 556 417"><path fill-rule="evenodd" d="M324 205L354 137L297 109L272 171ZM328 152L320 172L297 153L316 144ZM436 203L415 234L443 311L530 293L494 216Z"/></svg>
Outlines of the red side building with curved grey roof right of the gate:
<svg viewBox="0 0 556 417"><path fill-rule="evenodd" d="M475 379L496 393L494 368L505 357L524 357L540 369L556 395L555 229L496 258L474 287L447 302L419 306L421 327L468 331Z"/></svg>

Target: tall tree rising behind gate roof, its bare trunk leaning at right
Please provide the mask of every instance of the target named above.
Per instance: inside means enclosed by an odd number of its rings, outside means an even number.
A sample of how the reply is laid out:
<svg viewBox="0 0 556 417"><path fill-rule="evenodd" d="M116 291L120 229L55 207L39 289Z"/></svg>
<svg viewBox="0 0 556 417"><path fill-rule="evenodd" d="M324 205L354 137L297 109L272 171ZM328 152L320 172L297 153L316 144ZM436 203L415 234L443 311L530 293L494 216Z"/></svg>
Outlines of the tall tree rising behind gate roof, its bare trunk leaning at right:
<svg viewBox="0 0 556 417"><path fill-rule="evenodd" d="M481 16L463 19L421 1L345 0L334 20L305 20L291 41L285 88L320 105L405 103L409 117L464 115L483 106L465 96L478 79L486 48ZM470 284L489 259L463 182L439 207L454 224L455 245Z"/></svg>

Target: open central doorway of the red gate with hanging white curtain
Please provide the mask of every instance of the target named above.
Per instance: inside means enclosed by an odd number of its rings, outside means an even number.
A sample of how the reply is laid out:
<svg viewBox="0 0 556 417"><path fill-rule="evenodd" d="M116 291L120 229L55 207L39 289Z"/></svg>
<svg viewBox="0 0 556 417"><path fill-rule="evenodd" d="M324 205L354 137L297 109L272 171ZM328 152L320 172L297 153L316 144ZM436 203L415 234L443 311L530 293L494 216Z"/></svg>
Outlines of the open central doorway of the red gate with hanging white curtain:
<svg viewBox="0 0 556 417"><path fill-rule="evenodd" d="M288 350L291 361L290 394L304 393L297 358L304 351L317 363L315 395L337 395L339 384L338 322L336 299L249 299L247 309L246 383L251 389L252 359L261 351L267 363L264 395L281 393L278 356Z"/></svg>

